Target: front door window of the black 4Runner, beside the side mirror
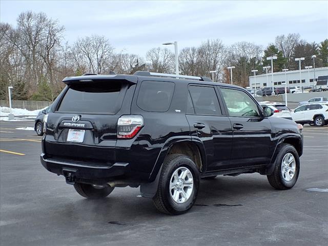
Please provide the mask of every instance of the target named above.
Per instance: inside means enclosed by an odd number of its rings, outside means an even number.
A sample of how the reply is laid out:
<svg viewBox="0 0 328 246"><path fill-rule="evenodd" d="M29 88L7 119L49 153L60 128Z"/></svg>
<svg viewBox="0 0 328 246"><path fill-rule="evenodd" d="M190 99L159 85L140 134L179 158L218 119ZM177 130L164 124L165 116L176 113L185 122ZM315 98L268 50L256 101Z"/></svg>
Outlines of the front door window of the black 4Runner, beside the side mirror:
<svg viewBox="0 0 328 246"><path fill-rule="evenodd" d="M221 89L223 99L230 116L259 117L260 113L256 103L245 92L235 89Z"/></svg>

